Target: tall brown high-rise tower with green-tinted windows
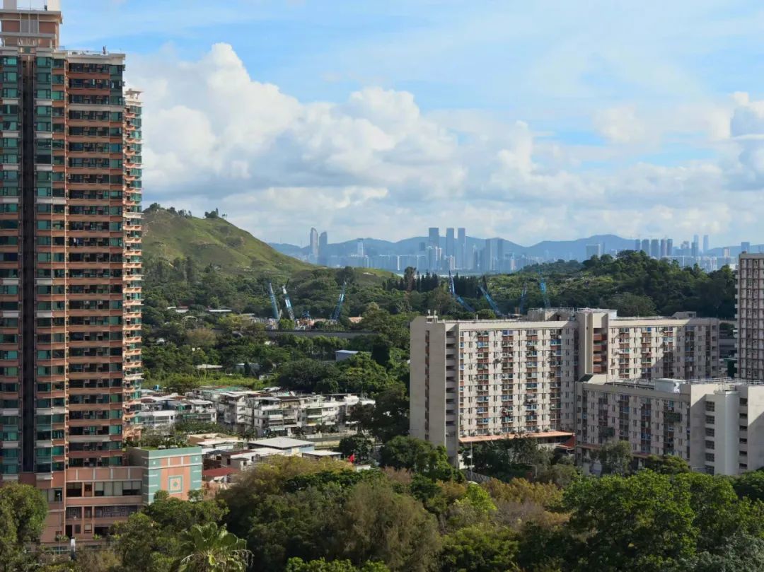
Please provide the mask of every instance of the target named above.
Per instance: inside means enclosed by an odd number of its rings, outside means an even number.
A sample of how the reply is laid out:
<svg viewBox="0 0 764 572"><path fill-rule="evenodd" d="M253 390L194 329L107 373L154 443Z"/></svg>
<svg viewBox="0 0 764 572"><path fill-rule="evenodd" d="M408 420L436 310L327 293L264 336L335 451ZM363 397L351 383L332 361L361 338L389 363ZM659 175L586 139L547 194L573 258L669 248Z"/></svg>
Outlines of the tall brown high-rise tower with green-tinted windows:
<svg viewBox="0 0 764 572"><path fill-rule="evenodd" d="M124 54L60 48L62 21L57 0L0 9L0 467L44 491L44 540L79 470L126 464L141 380L140 94Z"/></svg>

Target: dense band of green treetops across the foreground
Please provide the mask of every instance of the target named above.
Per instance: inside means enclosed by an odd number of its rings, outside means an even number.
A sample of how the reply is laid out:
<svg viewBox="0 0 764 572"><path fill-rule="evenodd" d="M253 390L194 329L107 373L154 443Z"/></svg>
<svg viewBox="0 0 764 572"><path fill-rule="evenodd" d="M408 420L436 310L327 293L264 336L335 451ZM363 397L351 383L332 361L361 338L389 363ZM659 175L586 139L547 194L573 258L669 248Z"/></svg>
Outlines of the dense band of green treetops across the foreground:
<svg viewBox="0 0 764 572"><path fill-rule="evenodd" d="M408 441L408 442L404 442ZM108 544L56 561L29 486L0 488L0 570L43 572L753 572L764 566L764 472L692 473L673 457L564 486L466 482L422 441L387 467L271 457L215 497L159 492ZM527 445L517 454L536 459ZM511 461L511 462L514 462Z"/></svg>

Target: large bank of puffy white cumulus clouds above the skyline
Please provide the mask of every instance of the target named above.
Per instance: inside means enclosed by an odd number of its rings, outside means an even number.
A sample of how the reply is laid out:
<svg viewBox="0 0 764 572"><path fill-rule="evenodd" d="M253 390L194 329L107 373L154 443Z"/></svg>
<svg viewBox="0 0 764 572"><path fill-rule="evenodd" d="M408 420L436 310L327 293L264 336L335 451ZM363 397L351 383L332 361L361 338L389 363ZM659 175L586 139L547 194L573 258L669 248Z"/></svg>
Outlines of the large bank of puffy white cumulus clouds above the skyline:
<svg viewBox="0 0 764 572"><path fill-rule="evenodd" d="M304 243L311 226L330 228L332 240L404 238L430 225L520 243L717 233L732 224L730 181L749 189L764 175L764 103L744 95L733 111L715 108L709 119L685 109L671 123L726 141L728 163L587 170L591 149L560 144L523 121L426 114L409 92L367 87L344 102L300 102L253 79L228 44L195 61L172 53L137 59L129 73L145 90L147 200L219 206L271 241ZM628 105L593 121L613 147L660 138L655 119Z"/></svg>

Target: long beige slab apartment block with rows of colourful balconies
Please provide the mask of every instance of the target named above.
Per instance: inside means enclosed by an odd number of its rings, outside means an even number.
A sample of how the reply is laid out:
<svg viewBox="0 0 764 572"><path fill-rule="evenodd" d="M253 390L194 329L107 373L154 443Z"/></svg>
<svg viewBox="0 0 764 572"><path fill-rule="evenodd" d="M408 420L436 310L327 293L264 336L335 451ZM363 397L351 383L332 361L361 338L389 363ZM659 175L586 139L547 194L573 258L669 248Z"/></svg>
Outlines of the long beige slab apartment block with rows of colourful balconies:
<svg viewBox="0 0 764 572"><path fill-rule="evenodd" d="M411 435L460 438L573 431L575 383L718 376L719 323L679 313L621 318L607 309L536 309L519 320L416 318L411 325Z"/></svg>

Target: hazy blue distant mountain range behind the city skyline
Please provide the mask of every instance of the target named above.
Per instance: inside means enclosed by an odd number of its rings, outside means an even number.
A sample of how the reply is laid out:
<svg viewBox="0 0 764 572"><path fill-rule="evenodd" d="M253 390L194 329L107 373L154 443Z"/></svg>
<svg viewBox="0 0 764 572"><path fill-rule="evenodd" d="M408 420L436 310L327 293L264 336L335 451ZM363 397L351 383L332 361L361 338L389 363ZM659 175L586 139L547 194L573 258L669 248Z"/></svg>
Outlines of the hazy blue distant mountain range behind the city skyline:
<svg viewBox="0 0 764 572"><path fill-rule="evenodd" d="M404 238L402 241L390 242L380 241L376 238L364 238L364 254L374 256L376 254L417 254L421 244L427 244L427 237ZM482 248L486 240L497 240L497 238L474 238L467 237L467 250ZM348 256L357 251L358 241L345 241L329 244L327 256ZM445 237L440 238L441 247L445 247ZM513 253L515 256L525 254L531 257L549 257L552 259L562 258L565 260L586 258L587 244L602 244L602 251L626 250L634 247L633 239L620 238L615 234L595 234L589 238L579 238L575 241L542 241L532 246L523 246L512 241L504 241L503 251L505 254ZM307 256L308 247L299 247L294 244L270 244L282 254L293 257Z"/></svg>

